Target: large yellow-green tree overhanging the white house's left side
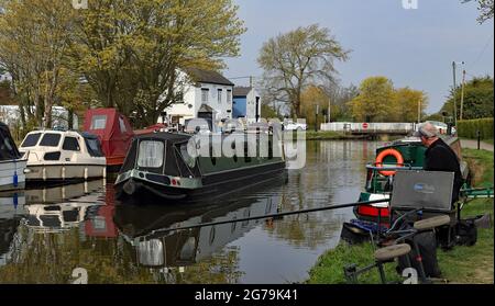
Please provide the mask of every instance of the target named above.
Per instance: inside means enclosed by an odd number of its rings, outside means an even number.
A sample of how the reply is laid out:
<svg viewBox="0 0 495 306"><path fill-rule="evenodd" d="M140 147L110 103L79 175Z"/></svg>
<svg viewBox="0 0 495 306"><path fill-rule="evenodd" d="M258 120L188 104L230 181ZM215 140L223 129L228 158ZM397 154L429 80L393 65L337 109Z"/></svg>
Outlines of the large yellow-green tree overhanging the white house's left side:
<svg viewBox="0 0 495 306"><path fill-rule="evenodd" d="M232 0L97 1L78 21L75 66L103 105L153 124L182 102L178 69L220 69L239 55L237 11Z"/></svg>

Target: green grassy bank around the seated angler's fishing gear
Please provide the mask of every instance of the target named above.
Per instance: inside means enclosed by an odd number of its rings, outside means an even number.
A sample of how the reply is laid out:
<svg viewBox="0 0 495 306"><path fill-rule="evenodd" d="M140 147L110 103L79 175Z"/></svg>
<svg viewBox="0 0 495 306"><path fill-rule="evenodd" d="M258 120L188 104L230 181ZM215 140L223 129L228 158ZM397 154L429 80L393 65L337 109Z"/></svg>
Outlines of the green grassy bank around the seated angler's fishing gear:
<svg viewBox="0 0 495 306"><path fill-rule="evenodd" d="M493 185L493 152L484 150L464 149L463 155L474 172L473 185ZM493 199L480 199L470 202L463 209L463 218L474 217L490 213L494 216ZM494 283L494 230L477 230L477 243L473 247L455 247L451 251L438 250L438 260L442 271L442 277L450 283ZM373 261L373 246L363 243L349 246L340 243L336 249L320 257L316 265L309 272L308 283L312 284L340 284L344 283L343 269L350 263L365 267ZM399 281L395 272L396 264L386 264L386 275L389 281ZM380 283L376 269L362 274L360 283Z"/></svg>

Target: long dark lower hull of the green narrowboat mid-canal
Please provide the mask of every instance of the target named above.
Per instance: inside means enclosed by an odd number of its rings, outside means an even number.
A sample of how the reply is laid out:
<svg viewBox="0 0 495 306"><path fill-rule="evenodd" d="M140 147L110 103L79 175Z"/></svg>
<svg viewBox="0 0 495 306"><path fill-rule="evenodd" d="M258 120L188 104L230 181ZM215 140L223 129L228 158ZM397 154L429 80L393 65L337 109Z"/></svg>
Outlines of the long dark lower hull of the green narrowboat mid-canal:
<svg viewBox="0 0 495 306"><path fill-rule="evenodd" d="M246 169L213 173L198 179L196 188L177 188L143 179L132 171L125 180L116 183L117 197L134 204L195 203L226 196L232 192L273 180L286 180L285 162L273 162Z"/></svg>

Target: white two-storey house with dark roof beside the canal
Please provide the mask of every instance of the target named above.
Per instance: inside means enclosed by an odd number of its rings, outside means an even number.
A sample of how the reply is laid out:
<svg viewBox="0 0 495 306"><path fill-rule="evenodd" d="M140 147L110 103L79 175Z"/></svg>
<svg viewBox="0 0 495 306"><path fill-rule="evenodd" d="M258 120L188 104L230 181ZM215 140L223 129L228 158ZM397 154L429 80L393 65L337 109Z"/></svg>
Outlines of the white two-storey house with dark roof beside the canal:
<svg viewBox="0 0 495 306"><path fill-rule="evenodd" d="M232 118L234 84L230 80L219 72L196 68L179 72L179 78L186 80L183 102L165 110L172 123L185 124L186 120L195 117Z"/></svg>

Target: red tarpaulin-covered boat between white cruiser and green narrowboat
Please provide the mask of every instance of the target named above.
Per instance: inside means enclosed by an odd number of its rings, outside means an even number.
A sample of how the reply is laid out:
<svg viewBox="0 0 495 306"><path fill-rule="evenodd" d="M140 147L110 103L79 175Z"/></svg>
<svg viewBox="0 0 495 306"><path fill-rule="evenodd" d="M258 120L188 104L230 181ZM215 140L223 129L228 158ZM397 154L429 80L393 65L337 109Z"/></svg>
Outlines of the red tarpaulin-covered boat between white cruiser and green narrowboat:
<svg viewBox="0 0 495 306"><path fill-rule="evenodd" d="M128 154L134 132L129 120L116 109L89 110L85 115L85 132L91 133L101 141L107 157L107 166L122 165Z"/></svg>

